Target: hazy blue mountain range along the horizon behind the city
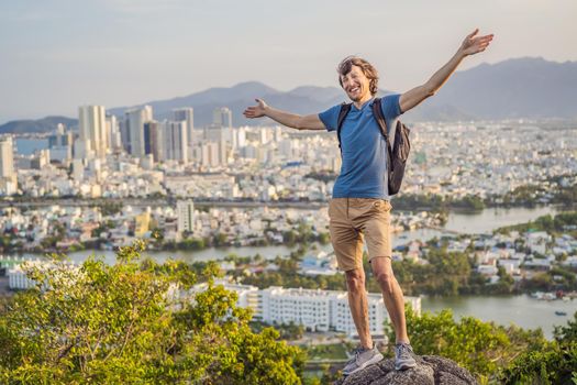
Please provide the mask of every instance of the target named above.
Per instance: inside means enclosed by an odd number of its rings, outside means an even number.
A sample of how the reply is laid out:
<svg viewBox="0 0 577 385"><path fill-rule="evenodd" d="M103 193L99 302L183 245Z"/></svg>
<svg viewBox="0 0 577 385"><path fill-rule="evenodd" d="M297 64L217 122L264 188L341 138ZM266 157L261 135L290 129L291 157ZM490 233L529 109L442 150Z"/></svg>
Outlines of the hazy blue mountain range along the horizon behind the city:
<svg viewBox="0 0 577 385"><path fill-rule="evenodd" d="M417 85L415 85L417 86ZM398 90L406 91L406 90ZM381 90L379 95L389 94ZM148 101L155 119L169 119L171 109L192 107L195 125L212 122L212 111L229 107L234 125L259 125L266 120L246 120L242 112L254 99L296 113L315 113L346 101L340 87L303 86L279 91L258 81L247 81L230 88L210 88L201 92L168 100ZM129 107L108 109L122 116ZM457 72L431 98L406 114L406 121L454 121L470 119L563 118L577 119L577 62L550 62L541 57L524 57L481 64ZM48 117L37 121L20 120L0 125L0 133L45 132L57 123L75 125L75 119Z"/></svg>

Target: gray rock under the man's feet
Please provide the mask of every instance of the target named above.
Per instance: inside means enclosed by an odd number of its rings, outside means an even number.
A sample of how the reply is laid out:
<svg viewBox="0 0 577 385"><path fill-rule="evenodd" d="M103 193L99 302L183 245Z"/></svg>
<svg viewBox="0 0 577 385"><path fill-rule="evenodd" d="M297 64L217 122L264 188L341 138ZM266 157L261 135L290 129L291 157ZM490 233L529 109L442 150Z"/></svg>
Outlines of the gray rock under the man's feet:
<svg viewBox="0 0 577 385"><path fill-rule="evenodd" d="M469 385L475 377L453 360L436 355L418 356L417 367L397 372L393 359L365 367L339 380L335 385Z"/></svg>

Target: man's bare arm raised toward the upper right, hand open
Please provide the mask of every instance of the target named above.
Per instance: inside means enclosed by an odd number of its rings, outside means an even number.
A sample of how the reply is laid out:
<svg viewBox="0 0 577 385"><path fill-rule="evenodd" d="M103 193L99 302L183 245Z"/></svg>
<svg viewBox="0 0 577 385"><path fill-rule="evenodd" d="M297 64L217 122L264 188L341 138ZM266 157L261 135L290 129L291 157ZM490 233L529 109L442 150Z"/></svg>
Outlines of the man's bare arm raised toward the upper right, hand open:
<svg viewBox="0 0 577 385"><path fill-rule="evenodd" d="M476 36L479 30L476 29L471 34L467 35L457 53L429 81L401 95L399 105L402 112L409 111L424 99L435 95L466 56L475 55L487 48L493 35Z"/></svg>

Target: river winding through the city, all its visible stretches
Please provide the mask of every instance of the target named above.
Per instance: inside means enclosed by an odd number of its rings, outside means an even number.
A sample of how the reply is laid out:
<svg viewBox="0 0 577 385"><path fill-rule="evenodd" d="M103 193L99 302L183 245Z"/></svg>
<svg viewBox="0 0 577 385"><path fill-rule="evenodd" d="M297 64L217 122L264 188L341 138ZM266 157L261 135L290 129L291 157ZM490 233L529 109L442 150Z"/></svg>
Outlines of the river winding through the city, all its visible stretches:
<svg viewBox="0 0 577 385"><path fill-rule="evenodd" d="M557 212L554 207L541 208L514 208L514 209L486 209L482 212L463 213L451 212L446 229L465 233L485 233L497 228L522 223L534 220L537 217L553 215ZM393 245L407 243L413 239L428 240L441 235L442 232L431 229L420 229L395 234ZM321 250L332 251L331 245L322 245ZM206 249L201 251L160 251L145 252L163 262L168 257L193 261L222 260L229 254L238 256L253 256L260 254L267 260L275 258L277 255L288 255L293 249L277 245L262 248L224 248L224 249ZM103 255L106 261L113 262L114 253L112 251L80 251L70 253L70 258L81 262L90 254ZM422 309L424 311L440 311L450 308L456 318L463 316L473 316L484 321L495 321L496 323L508 326L515 323L522 328L535 329L543 328L547 338L553 336L553 327L556 324L566 324L567 320L573 317L577 310L577 300L564 302L561 300L544 301L531 298L529 296L458 296L458 297L423 297ZM555 310L563 310L567 316L556 316Z"/></svg>

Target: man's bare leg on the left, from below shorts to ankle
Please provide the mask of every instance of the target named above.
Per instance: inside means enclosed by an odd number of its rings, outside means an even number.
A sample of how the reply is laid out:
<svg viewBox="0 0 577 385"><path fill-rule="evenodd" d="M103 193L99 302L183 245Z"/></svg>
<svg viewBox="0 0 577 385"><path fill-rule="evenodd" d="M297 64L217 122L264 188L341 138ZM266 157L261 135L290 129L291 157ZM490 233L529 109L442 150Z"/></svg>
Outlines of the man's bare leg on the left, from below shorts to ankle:
<svg viewBox="0 0 577 385"><path fill-rule="evenodd" d="M346 286L348 288L348 306L351 315L355 322L360 345L366 349L373 349L373 339L370 337L370 328L368 324L368 302L367 292L365 288L365 271L363 267L357 267L345 272Z"/></svg>

